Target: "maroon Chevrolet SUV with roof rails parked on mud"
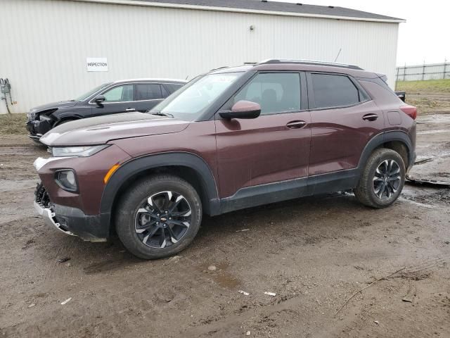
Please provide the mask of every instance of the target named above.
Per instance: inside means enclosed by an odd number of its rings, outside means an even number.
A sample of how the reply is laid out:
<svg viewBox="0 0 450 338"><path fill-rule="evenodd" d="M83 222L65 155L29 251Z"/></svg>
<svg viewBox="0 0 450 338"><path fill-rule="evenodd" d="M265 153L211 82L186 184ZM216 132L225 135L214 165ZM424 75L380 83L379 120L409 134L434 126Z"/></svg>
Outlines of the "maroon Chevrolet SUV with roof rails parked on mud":
<svg viewBox="0 0 450 338"><path fill-rule="evenodd" d="M203 213L353 189L392 204L415 160L416 108L353 65L270 60L201 75L149 113L41 138L35 208L89 241L117 232L141 258L186 248Z"/></svg>

